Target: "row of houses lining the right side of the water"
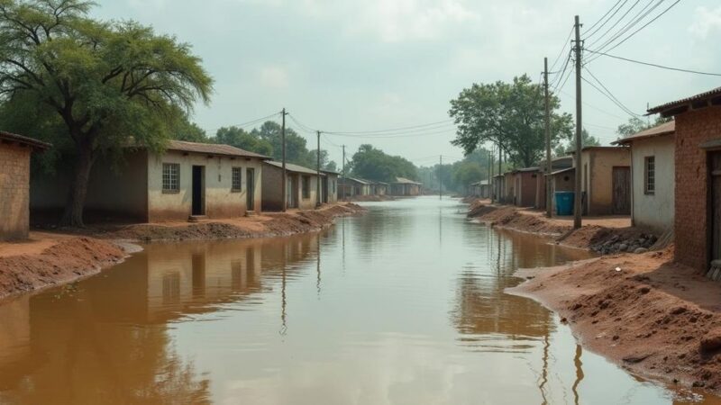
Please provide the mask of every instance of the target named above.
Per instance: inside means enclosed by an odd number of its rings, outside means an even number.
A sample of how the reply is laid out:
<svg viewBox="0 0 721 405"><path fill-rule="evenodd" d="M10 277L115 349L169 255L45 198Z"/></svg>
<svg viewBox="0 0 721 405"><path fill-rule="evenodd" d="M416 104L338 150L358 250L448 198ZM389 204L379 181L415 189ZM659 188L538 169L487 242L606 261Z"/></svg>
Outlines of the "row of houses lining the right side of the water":
<svg viewBox="0 0 721 405"><path fill-rule="evenodd" d="M489 196L544 209L546 178L555 193L573 191L580 175L584 215L630 215L634 226L673 235L677 262L721 279L721 87L648 112L672 120L555 158L551 173L542 162L497 175Z"/></svg>

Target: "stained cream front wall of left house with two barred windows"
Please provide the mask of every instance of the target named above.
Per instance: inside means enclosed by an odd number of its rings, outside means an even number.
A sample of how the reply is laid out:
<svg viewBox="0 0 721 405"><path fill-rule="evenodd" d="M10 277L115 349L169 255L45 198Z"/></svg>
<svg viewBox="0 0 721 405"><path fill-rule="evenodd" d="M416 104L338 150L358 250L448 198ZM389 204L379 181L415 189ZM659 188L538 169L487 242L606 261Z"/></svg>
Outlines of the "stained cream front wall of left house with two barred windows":
<svg viewBox="0 0 721 405"><path fill-rule="evenodd" d="M180 190L163 193L163 163L180 165ZM148 157L148 217L150 221L187 220L192 212L193 166L205 166L205 215L208 218L235 218L245 215L248 179L246 169L255 169L256 211L260 210L262 170L260 159L245 157L207 157L205 154L170 150ZM233 167L242 168L242 190L232 190Z"/></svg>

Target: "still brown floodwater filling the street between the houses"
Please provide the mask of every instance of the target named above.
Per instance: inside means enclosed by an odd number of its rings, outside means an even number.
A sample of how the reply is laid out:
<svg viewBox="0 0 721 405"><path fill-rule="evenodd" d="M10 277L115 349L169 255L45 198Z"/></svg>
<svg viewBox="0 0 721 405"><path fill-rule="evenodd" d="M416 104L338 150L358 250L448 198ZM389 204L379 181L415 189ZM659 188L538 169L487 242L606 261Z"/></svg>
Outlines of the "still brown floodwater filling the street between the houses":
<svg viewBox="0 0 721 405"><path fill-rule="evenodd" d="M3 404L719 403L577 346L516 268L585 253L369 203L295 238L145 247L0 305Z"/></svg>

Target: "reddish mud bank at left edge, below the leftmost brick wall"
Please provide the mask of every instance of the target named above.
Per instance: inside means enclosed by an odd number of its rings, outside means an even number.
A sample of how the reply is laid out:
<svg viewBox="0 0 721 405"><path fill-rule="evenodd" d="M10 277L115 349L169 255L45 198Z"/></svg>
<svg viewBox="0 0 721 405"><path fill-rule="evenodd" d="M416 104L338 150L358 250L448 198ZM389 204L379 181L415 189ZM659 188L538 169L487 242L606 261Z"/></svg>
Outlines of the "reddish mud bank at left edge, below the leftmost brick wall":
<svg viewBox="0 0 721 405"><path fill-rule="evenodd" d="M0 299L95 275L126 257L122 247L95 238L64 238L40 252L0 257Z"/></svg>

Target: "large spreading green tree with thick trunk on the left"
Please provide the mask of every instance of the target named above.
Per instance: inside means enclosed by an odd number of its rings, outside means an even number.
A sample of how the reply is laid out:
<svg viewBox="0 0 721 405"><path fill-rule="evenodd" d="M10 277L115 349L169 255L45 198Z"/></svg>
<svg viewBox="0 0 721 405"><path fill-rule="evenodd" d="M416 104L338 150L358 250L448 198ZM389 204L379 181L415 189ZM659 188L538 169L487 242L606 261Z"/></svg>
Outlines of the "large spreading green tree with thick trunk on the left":
<svg viewBox="0 0 721 405"><path fill-rule="evenodd" d="M161 150L213 80L190 46L134 22L88 17L83 0L0 0L0 102L59 121L75 170L62 223L83 226L96 158L130 143ZM54 139L50 139L54 140ZM56 143L56 142L53 142Z"/></svg>

